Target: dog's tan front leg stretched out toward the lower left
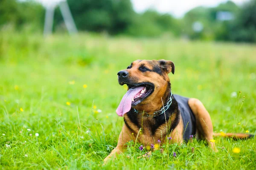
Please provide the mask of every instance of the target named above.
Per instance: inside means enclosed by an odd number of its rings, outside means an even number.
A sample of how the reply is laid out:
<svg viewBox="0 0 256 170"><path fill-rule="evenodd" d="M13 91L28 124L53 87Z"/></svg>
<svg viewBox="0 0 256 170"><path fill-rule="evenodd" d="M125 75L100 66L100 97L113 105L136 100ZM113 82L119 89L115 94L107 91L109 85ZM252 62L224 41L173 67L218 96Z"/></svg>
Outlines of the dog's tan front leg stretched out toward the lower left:
<svg viewBox="0 0 256 170"><path fill-rule="evenodd" d="M131 130L129 130L126 125L124 125L122 127L122 131L119 135L119 139L117 142L117 146L116 148L114 148L112 150L112 152L104 159L104 162L108 161L110 158L112 157L116 157L116 154L120 154L123 152L123 149L125 146L125 143L127 143L128 141L132 140L132 134L131 134Z"/></svg>

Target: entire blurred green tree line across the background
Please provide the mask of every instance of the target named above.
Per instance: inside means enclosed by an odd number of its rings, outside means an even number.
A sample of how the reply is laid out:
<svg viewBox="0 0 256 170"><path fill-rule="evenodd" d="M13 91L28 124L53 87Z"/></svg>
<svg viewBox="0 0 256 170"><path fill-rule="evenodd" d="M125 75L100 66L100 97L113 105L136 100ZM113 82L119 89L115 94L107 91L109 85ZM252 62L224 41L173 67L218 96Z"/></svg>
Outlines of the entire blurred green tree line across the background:
<svg viewBox="0 0 256 170"><path fill-rule="evenodd" d="M134 37L187 37L189 39L256 42L256 0L237 6L196 7L177 19L147 10L134 12L130 0L67 0L77 29ZM43 32L45 9L35 1L1 0L0 29ZM54 32L65 32L60 9L55 9Z"/></svg>

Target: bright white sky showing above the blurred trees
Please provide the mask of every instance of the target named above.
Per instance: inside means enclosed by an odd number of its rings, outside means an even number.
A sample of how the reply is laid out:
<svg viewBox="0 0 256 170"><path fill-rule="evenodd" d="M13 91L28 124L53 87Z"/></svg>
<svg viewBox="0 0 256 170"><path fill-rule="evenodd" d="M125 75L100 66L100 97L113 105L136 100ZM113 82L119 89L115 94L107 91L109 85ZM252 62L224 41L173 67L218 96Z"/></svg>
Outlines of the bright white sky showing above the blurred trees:
<svg viewBox="0 0 256 170"><path fill-rule="evenodd" d="M62 0L36 0L43 5L49 5ZM234 3L241 5L247 0L232 0ZM131 0L134 10L138 13L147 9L155 9L160 13L169 13L174 17L183 17L190 9L197 6L214 7L219 3L225 3L227 0Z"/></svg>

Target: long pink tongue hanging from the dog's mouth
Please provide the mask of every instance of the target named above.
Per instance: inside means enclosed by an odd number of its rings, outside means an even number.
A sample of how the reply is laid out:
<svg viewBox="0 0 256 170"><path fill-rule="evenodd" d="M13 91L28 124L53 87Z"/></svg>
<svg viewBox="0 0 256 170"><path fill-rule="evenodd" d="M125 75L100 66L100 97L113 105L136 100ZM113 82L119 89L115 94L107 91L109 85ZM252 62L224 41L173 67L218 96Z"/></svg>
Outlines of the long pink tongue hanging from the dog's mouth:
<svg viewBox="0 0 256 170"><path fill-rule="evenodd" d="M120 101L119 106L116 109L116 113L119 116L123 116L125 113L129 112L131 109L131 100L134 98L134 96L140 92L144 87L135 87L132 89L129 89L125 95L123 96L122 100Z"/></svg>

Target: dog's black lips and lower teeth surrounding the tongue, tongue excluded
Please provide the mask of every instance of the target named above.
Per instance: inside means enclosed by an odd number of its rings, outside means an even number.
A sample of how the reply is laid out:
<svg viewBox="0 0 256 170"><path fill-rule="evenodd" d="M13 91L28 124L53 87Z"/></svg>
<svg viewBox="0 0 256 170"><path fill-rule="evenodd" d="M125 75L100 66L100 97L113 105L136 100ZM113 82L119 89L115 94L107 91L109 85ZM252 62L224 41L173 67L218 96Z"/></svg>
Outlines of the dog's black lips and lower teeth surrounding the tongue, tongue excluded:
<svg viewBox="0 0 256 170"><path fill-rule="evenodd" d="M150 82L143 82L143 83L125 83L121 82L120 85L126 84L128 86L128 90L136 87L143 86L144 89L140 91L139 94L135 95L132 99L131 106L136 106L137 104L140 104L142 101L144 101L148 96L150 96L154 92L154 84Z"/></svg>

